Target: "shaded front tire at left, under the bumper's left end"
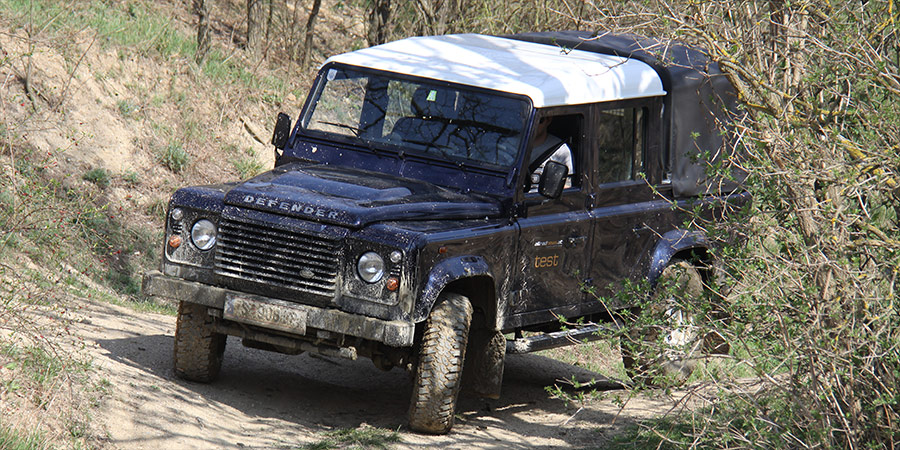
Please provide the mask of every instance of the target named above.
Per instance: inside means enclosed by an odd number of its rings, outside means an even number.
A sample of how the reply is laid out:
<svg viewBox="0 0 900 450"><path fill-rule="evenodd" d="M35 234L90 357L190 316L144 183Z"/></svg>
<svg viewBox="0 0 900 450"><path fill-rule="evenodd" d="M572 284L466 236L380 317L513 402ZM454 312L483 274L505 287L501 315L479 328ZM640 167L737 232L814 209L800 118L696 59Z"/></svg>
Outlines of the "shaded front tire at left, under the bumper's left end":
<svg viewBox="0 0 900 450"><path fill-rule="evenodd" d="M208 308L196 303L178 304L175 326L175 375L207 383L219 375L225 353L224 334L213 331Z"/></svg>

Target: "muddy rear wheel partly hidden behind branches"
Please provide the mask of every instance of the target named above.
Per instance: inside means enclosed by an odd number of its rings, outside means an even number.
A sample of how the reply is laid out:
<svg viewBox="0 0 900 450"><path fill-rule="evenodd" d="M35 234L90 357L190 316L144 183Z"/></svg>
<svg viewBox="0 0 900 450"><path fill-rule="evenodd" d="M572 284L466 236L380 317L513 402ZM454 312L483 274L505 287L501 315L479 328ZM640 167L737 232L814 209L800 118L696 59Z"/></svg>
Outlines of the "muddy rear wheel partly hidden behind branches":
<svg viewBox="0 0 900 450"><path fill-rule="evenodd" d="M686 261L663 270L647 311L652 323L622 337L622 363L635 384L680 386L693 373L704 338L679 305L703 301L703 289L700 271Z"/></svg>

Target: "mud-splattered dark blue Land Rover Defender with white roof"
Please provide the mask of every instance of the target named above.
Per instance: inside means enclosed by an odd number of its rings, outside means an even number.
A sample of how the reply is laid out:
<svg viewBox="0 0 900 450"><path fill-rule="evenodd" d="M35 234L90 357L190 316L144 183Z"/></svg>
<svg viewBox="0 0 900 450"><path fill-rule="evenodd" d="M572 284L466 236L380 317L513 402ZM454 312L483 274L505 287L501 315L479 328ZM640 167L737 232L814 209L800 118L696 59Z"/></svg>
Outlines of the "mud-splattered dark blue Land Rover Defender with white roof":
<svg viewBox="0 0 900 450"><path fill-rule="evenodd" d="M701 50L632 35L414 37L333 56L296 123L278 116L273 170L169 202L144 291L178 301L175 373L213 380L226 336L364 356L413 371L410 427L446 433L464 367L497 397L507 353L600 326L560 317L616 324L634 305L597 298L623 280L708 276L708 239L681 210L718 220L748 200L739 175L708 170L739 148L736 102Z"/></svg>

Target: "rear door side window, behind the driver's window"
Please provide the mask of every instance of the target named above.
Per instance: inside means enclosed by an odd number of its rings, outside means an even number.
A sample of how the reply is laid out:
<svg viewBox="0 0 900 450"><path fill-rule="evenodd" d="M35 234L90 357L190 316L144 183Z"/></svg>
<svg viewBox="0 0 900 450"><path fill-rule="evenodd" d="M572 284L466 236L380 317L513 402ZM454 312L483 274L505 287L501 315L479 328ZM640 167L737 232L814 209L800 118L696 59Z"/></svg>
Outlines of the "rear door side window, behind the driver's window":
<svg viewBox="0 0 900 450"><path fill-rule="evenodd" d="M644 170L647 108L600 111L597 127L598 183L633 180Z"/></svg>

